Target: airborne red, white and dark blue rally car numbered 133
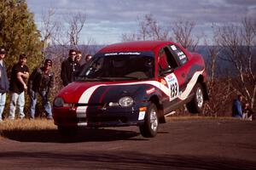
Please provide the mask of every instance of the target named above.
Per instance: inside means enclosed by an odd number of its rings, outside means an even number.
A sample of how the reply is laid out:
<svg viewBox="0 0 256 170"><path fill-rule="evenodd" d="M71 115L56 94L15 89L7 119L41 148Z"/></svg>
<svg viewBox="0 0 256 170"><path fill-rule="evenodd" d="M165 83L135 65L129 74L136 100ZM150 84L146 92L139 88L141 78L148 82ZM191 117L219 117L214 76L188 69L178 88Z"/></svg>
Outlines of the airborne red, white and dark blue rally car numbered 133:
<svg viewBox="0 0 256 170"><path fill-rule="evenodd" d="M57 94L55 125L62 135L78 127L134 125L144 137L154 137L174 109L186 104L190 112L201 112L206 80L201 55L175 42L115 43Z"/></svg>

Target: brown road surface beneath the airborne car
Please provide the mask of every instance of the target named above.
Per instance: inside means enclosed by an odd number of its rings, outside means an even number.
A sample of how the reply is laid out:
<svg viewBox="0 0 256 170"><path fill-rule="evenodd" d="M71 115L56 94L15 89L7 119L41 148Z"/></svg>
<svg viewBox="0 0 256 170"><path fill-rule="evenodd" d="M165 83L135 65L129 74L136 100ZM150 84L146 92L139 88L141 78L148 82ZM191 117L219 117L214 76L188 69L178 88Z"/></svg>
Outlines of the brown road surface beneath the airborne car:
<svg viewBox="0 0 256 170"><path fill-rule="evenodd" d="M137 127L6 131L0 169L255 169L256 122L193 119L161 124L154 139Z"/></svg>

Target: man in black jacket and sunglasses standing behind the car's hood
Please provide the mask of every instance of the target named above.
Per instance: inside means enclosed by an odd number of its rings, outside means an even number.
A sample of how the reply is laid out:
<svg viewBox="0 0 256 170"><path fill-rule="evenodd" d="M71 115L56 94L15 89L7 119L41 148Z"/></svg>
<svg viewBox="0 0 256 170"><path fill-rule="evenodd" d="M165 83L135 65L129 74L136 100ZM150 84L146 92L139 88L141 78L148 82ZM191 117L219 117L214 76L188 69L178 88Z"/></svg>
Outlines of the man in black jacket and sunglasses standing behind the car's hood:
<svg viewBox="0 0 256 170"><path fill-rule="evenodd" d="M76 51L69 50L69 57L61 63L61 80L63 86L74 81L75 74L79 71L79 63L75 60Z"/></svg>

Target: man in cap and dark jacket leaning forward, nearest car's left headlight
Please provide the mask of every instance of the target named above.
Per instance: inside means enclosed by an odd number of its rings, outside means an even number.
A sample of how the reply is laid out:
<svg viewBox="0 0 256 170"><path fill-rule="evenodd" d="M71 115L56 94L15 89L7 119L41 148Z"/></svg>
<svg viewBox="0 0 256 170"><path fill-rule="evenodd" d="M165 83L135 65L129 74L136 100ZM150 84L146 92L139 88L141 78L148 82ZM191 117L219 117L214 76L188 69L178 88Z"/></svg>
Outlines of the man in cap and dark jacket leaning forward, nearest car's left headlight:
<svg viewBox="0 0 256 170"><path fill-rule="evenodd" d="M51 105L49 103L49 94L54 88L55 75L50 71L52 67L52 60L45 59L44 66L36 68L32 71L28 79L27 92L30 98L30 118L35 118L37 97L41 96L44 112L47 119L52 119Z"/></svg>

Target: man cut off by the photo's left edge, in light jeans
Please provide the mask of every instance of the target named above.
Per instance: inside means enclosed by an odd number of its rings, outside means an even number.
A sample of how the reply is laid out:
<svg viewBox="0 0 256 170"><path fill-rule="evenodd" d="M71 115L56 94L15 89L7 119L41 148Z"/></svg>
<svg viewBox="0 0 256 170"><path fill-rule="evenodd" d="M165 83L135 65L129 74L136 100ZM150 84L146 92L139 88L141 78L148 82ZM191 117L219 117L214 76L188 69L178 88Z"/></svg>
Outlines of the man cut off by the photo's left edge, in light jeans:
<svg viewBox="0 0 256 170"><path fill-rule="evenodd" d="M0 48L0 122L3 122L2 114L6 101L6 93L9 90L9 80L7 77L6 67L3 62L5 57L4 48Z"/></svg>

